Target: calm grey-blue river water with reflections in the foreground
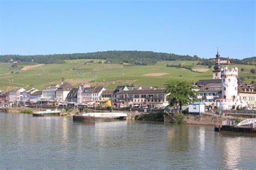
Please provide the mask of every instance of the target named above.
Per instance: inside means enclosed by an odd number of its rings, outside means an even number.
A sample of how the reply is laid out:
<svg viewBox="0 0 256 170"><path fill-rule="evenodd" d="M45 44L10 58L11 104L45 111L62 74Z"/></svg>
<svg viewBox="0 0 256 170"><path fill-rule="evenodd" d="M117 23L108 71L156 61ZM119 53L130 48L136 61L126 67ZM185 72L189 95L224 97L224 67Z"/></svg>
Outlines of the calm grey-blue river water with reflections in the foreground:
<svg viewBox="0 0 256 170"><path fill-rule="evenodd" d="M256 135L213 126L0 113L0 169L256 168Z"/></svg>

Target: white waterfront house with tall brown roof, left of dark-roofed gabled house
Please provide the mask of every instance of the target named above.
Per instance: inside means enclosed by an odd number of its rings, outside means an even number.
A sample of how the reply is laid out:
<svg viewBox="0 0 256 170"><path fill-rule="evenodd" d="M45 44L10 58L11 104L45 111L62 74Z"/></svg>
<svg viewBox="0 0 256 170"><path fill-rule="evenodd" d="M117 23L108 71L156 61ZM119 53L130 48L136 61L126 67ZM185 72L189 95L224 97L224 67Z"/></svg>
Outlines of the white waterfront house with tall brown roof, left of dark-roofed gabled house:
<svg viewBox="0 0 256 170"><path fill-rule="evenodd" d="M72 88L70 83L62 83L56 90L56 101L63 103Z"/></svg>

